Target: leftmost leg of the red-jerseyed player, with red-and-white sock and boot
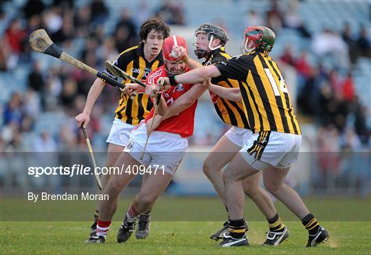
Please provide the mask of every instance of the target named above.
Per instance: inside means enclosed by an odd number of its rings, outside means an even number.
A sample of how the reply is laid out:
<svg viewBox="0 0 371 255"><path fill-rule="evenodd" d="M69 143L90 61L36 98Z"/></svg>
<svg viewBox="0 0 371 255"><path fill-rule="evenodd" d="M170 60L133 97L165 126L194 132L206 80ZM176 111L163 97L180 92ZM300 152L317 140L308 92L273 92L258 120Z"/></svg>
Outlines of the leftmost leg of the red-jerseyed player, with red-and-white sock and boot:
<svg viewBox="0 0 371 255"><path fill-rule="evenodd" d="M115 167L122 169L122 165L125 166L137 166L139 168L140 164L131 157L130 154L123 152L115 163ZM125 168L124 168L125 169ZM108 195L108 200L102 200L99 205L99 217L97 224L97 232L91 238L89 238L87 243L104 243L106 239L106 234L109 231L111 225L111 219L113 214L117 209L117 199L121 191L129 184L129 182L135 177L129 173L114 173L109 178L109 181L104 187L103 194Z"/></svg>

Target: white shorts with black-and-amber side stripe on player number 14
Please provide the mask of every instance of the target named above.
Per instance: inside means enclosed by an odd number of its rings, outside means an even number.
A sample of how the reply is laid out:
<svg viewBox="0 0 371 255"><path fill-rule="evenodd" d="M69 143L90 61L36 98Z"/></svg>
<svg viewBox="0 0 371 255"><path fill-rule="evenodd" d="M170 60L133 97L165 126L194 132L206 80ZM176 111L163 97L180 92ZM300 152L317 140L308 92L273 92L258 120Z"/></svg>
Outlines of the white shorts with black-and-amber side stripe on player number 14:
<svg viewBox="0 0 371 255"><path fill-rule="evenodd" d="M297 162L301 143L302 135L262 131L254 133L240 153L258 170L263 170L269 165L286 168Z"/></svg>

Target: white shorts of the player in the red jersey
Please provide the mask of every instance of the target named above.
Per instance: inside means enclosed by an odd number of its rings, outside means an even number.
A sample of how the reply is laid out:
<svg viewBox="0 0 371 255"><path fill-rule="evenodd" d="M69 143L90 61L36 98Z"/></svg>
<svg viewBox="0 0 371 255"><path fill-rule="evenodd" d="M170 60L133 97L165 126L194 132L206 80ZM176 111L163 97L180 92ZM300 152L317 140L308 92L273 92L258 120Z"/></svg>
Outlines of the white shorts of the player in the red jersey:
<svg viewBox="0 0 371 255"><path fill-rule="evenodd" d="M153 131L150 134L144 157L141 160L144 144L146 143L146 124L141 122L130 134L124 151L129 153L137 162L144 166L151 166L174 175L188 147L187 138L179 134L162 131Z"/></svg>

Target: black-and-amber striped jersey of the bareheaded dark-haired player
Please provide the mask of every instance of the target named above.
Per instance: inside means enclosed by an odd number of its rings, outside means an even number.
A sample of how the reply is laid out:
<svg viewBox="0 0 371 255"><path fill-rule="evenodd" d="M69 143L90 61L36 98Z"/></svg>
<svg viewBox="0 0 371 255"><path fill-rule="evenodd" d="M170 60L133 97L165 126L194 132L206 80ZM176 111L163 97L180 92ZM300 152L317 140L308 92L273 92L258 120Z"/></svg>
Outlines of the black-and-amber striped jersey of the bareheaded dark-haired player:
<svg viewBox="0 0 371 255"><path fill-rule="evenodd" d="M143 47L144 45L141 44L126 49L113 60L113 64L139 80L146 80L151 71L164 64L164 60L162 52L160 52L157 58L148 62L144 58ZM112 76L107 69L104 72ZM124 79L122 82L131 83L131 80ZM146 118L152 107L153 103L146 93L138 93L132 98L121 93L120 101L115 109L115 118L128 124L137 125Z"/></svg>

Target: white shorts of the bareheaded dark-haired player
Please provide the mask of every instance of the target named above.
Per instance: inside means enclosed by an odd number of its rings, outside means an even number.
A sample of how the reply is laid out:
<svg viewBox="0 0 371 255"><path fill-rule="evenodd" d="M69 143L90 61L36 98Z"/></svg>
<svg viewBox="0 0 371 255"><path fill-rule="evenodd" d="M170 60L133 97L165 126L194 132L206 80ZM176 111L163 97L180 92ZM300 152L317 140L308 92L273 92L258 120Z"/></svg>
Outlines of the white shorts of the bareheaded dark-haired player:
<svg viewBox="0 0 371 255"><path fill-rule="evenodd" d="M130 132L135 128L134 125L127 124L115 118L112 122L111 131L106 142L124 147L128 143Z"/></svg>

